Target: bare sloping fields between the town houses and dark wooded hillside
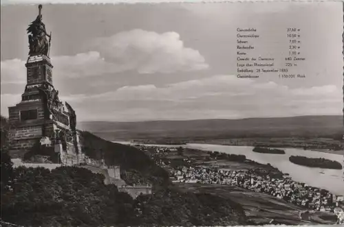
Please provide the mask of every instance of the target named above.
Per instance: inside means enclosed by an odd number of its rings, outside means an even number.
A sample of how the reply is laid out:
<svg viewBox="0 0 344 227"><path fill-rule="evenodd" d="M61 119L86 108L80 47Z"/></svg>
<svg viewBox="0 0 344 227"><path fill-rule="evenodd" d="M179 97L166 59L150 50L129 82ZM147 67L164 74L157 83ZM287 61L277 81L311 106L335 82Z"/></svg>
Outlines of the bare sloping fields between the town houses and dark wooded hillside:
<svg viewBox="0 0 344 227"><path fill-rule="evenodd" d="M185 190L214 193L224 198L230 198L244 207L246 217L255 224L269 224L270 222L289 225L310 224L310 222L312 224L333 224L334 216L328 215L328 213L316 212L308 215L307 219L301 219L299 214L305 209L264 193L222 184L177 183L175 185Z"/></svg>

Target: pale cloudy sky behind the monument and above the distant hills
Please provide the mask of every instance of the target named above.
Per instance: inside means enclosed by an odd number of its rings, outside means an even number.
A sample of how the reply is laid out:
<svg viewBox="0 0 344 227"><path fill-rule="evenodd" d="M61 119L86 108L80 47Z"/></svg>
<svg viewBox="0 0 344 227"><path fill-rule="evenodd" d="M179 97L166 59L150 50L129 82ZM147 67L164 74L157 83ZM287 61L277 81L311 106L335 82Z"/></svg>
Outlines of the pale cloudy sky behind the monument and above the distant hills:
<svg viewBox="0 0 344 227"><path fill-rule="evenodd" d="M1 6L1 115L25 88L37 5ZM53 82L78 121L341 115L341 3L43 5ZM261 38L251 56L283 67L286 27L301 29L294 73L238 79L237 27Z"/></svg>

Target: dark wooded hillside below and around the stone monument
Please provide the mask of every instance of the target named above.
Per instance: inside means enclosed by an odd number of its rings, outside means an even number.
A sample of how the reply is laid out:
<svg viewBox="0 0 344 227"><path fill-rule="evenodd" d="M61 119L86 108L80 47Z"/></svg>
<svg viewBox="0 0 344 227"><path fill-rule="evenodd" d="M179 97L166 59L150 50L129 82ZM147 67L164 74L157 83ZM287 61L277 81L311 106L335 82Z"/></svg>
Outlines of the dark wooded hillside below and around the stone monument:
<svg viewBox="0 0 344 227"><path fill-rule="evenodd" d="M243 208L210 193L180 191L164 169L139 150L83 132L89 155L103 150L107 162L138 171L155 184L153 194L133 200L104 176L80 167L14 168L8 155L8 122L1 117L1 219L22 226L215 226L243 225ZM86 142L87 141L87 142ZM119 149L120 148L120 149ZM114 152L114 154L111 154ZM124 154L125 153L125 154ZM142 162L142 163L140 163ZM167 174L167 175L166 175ZM160 186L160 187L157 187Z"/></svg>

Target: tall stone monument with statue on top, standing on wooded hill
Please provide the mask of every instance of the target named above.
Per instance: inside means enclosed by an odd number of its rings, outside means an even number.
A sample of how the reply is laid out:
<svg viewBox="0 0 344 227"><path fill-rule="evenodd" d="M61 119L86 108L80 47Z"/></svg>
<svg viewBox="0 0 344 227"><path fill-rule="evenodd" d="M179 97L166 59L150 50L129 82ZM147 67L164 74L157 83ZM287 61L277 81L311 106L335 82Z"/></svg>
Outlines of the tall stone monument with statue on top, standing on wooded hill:
<svg viewBox="0 0 344 227"><path fill-rule="evenodd" d="M13 126L10 155L31 160L43 155L66 163L72 158L72 163L77 163L80 145L76 113L67 102L63 104L54 88L49 57L52 34L47 34L41 10L42 5L39 5L39 14L27 29L29 56L25 64L25 91L21 102L9 107L9 120Z"/></svg>

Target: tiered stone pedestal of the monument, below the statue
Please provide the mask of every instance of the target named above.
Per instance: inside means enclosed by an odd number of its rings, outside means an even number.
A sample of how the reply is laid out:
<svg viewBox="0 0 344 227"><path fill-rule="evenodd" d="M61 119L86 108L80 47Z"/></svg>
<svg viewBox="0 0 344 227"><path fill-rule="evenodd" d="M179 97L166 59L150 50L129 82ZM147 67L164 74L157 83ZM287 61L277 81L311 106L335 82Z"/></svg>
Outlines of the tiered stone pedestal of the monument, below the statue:
<svg viewBox="0 0 344 227"><path fill-rule="evenodd" d="M71 121L75 121L75 112L71 106L65 106L58 99L58 91L52 85L50 58L30 56L25 67L28 76L21 102L9 107L9 121L12 125L10 156L28 158L35 154L46 155L46 141L50 141L48 146L52 146L54 153L56 138L60 137L65 141L60 152L77 153L76 129L70 126ZM44 151L41 145L44 145Z"/></svg>

